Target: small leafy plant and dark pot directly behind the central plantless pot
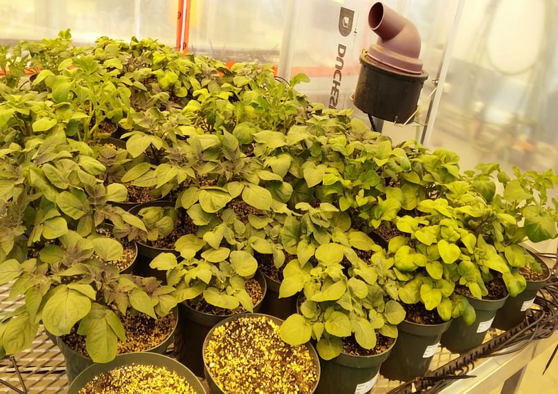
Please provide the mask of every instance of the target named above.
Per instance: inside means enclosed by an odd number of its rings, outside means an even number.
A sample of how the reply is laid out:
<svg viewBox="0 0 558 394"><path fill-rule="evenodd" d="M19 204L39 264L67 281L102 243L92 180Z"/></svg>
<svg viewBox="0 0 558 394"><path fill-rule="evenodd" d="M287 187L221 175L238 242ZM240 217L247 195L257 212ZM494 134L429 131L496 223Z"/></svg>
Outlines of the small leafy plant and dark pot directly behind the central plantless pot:
<svg viewBox="0 0 558 394"><path fill-rule="evenodd" d="M172 253L161 253L151 267L166 271L167 282L176 288L172 295L180 302L175 353L177 360L194 373L203 373L203 338L221 320L235 313L257 311L266 293L266 281L257 273L257 261L250 253L229 247L212 248L193 235L177 242L181 253L190 256L180 262Z"/></svg>

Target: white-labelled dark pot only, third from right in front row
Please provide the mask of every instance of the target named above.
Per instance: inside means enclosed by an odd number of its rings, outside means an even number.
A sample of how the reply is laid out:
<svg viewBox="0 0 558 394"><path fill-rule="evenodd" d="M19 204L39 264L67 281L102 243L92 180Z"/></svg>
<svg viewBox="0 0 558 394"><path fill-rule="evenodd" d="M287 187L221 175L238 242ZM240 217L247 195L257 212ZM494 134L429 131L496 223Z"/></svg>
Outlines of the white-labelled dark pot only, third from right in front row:
<svg viewBox="0 0 558 394"><path fill-rule="evenodd" d="M403 321L397 329L399 335L388 360L380 373L390 380L409 381L428 371L432 356L439 346L440 337L451 324L418 324Z"/></svg>

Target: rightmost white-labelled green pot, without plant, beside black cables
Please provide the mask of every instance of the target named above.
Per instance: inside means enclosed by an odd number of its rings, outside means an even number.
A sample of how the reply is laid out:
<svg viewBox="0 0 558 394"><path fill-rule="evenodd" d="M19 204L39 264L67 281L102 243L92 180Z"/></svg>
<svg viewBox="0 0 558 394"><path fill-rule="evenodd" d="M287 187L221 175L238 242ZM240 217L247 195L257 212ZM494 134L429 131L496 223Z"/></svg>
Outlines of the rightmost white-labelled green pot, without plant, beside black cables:
<svg viewBox="0 0 558 394"><path fill-rule="evenodd" d="M496 312L496 317L492 323L492 326L496 329L509 330L512 327L517 326L517 324L523 322L525 320L527 310L531 307L532 302L535 301L537 292L546 284L548 278L550 278L550 269L548 269L544 261L542 261L534 253L531 253L531 255L538 260L539 264L543 268L543 272L546 272L546 278L543 280L528 280L527 287L524 291L515 297L509 297L508 300L506 300L504 307L501 307Z"/></svg>

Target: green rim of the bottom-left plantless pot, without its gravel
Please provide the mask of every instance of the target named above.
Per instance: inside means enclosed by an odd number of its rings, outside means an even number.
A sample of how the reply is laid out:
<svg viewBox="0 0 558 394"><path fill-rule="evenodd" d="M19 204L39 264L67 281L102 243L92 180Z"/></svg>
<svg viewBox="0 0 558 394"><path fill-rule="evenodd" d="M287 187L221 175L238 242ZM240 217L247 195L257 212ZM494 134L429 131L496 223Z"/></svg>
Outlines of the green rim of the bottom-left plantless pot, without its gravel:
<svg viewBox="0 0 558 394"><path fill-rule="evenodd" d="M167 357L166 355L147 352L121 354L117 355L117 357L111 362L107 362L105 364L92 364L88 366L74 379L72 384L70 384L68 394L78 394L80 388L85 386L88 382L90 382L90 380L101 373L108 372L119 366L130 364L164 366L166 369L175 371L178 375L186 377L186 381L190 384L190 386L192 386L196 394L206 394L206 390L203 388L196 375L186 368L186 366L183 366L177 362L177 360Z"/></svg>

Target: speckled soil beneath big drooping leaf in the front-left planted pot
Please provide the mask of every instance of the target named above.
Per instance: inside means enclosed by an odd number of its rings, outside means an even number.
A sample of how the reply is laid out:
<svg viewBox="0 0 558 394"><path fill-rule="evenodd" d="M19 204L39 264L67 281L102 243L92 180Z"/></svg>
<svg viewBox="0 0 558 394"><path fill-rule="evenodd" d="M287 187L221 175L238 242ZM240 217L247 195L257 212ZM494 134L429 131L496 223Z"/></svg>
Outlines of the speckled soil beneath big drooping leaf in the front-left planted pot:
<svg viewBox="0 0 558 394"><path fill-rule="evenodd" d="M128 313L123 316L116 307L111 305L110 308L118 315L124 331L126 331L126 342L118 340L118 354L147 351L163 343L176 325L173 313L155 320L143 313L133 316ZM68 335L63 335L62 340L77 353L89 357L86 349L86 337L78 335L75 328Z"/></svg>

